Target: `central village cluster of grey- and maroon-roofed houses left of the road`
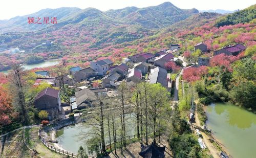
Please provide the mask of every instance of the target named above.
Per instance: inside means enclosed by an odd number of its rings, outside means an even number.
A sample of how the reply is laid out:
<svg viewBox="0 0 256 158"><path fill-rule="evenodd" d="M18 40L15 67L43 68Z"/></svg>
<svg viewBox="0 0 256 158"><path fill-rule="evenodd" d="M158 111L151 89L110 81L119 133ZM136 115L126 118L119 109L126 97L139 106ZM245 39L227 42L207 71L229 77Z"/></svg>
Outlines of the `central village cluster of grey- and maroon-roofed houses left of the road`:
<svg viewBox="0 0 256 158"><path fill-rule="evenodd" d="M178 48L175 45L176 48ZM174 49L173 49L174 50ZM71 67L69 74L60 77L51 77L47 71L35 72L38 75L35 85L46 82L51 84L37 94L34 104L38 110L47 110L49 119L67 115L75 109L83 109L94 106L94 101L100 95L115 97L116 88L121 82L160 83L170 90L165 63L176 58L170 51L162 50L156 54L140 53L123 59L121 64L114 65L110 59L102 59L90 62L90 67L82 69L80 66ZM100 81L97 87L93 87L95 81ZM60 100L60 91L54 87L67 84L75 89L75 95L69 103ZM79 85L79 86L78 86ZM81 86L82 85L82 86Z"/></svg>

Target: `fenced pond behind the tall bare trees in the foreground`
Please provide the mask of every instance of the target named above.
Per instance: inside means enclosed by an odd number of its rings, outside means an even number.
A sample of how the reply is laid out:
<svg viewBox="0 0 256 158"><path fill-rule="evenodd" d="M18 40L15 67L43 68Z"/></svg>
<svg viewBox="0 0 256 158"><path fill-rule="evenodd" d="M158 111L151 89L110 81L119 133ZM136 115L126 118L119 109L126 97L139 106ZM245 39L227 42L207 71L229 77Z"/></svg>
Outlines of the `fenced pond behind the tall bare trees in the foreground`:
<svg viewBox="0 0 256 158"><path fill-rule="evenodd" d="M136 117L134 114L126 114L125 115L125 128L126 128L126 136L132 136L136 134ZM120 127L120 118L116 119L116 123L118 127ZM107 124L104 123L105 128L105 141L109 141L109 134L106 132ZM112 128L111 128L112 129ZM90 132L90 127L88 127L85 123L76 124L73 126L65 127L56 132L55 138L58 141L58 145L70 152L77 153L77 150L80 146L82 146L88 153L87 149L87 140L92 138L93 136L84 136L85 133ZM117 130L118 134L119 130ZM119 134L118 134L119 135ZM111 139L113 133L111 132Z"/></svg>

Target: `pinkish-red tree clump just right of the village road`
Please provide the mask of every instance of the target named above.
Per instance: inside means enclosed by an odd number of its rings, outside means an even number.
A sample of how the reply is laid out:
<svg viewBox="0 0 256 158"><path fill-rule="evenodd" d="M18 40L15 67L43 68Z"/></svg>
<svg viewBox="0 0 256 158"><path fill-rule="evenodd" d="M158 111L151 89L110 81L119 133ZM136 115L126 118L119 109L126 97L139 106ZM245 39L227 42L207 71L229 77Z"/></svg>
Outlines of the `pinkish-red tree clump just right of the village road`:
<svg viewBox="0 0 256 158"><path fill-rule="evenodd" d="M184 69L182 78L188 82L195 82L207 74L207 70L207 66L188 67Z"/></svg>

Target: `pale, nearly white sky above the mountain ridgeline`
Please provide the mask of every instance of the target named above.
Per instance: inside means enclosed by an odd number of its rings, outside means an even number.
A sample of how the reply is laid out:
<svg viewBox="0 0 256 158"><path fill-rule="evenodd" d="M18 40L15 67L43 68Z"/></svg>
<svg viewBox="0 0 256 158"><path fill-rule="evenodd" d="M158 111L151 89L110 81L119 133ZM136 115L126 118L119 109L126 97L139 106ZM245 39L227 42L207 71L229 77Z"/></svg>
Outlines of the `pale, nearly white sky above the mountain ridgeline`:
<svg viewBox="0 0 256 158"><path fill-rule="evenodd" d="M168 0L4 0L0 2L0 19L23 16L46 8L78 7L85 9L93 7L101 11L120 9L128 6L139 8L156 6ZM255 0L169 0L181 9L196 8L198 10L244 9L255 4Z"/></svg>

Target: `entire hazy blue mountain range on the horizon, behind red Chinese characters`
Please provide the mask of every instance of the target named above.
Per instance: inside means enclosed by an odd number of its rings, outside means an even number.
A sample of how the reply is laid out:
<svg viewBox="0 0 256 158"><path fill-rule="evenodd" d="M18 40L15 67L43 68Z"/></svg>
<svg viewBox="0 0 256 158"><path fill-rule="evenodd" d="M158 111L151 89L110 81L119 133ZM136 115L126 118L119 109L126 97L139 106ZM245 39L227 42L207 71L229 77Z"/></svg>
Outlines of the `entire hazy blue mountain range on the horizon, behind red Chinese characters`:
<svg viewBox="0 0 256 158"><path fill-rule="evenodd" d="M37 31L44 28L51 29L52 26L54 29L68 24L93 27L94 25L98 26L97 22L107 25L140 25L147 29L157 29L172 25L197 13L197 9L180 9L169 2L153 7L126 7L106 12L94 8L83 10L79 8L43 9L30 15L0 20L0 33ZM44 17L57 17L58 24L28 24L28 17L35 17L35 20L40 17L41 22Z"/></svg>

